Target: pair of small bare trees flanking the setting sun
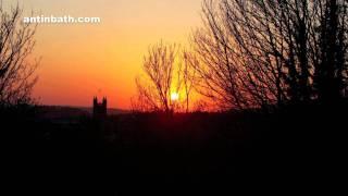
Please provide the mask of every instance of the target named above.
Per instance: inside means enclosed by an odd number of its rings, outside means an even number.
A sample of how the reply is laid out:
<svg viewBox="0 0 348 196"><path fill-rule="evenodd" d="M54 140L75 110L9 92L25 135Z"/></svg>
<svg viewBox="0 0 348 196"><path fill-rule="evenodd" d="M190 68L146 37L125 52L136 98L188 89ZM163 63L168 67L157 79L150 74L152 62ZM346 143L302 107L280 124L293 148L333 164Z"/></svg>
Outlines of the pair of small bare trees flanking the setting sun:
<svg viewBox="0 0 348 196"><path fill-rule="evenodd" d="M132 99L135 111L190 112L195 93L196 71L190 64L196 59L177 45L159 44L149 48L144 61L144 73L136 77L137 96ZM176 94L177 100L172 100Z"/></svg>

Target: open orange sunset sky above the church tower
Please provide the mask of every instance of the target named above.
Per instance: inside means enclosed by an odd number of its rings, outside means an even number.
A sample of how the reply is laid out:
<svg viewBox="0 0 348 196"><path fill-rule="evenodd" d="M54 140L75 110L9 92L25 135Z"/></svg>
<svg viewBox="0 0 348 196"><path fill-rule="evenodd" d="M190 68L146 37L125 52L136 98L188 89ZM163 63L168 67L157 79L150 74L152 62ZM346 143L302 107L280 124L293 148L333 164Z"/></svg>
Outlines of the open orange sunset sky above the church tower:
<svg viewBox="0 0 348 196"><path fill-rule="evenodd" d="M91 106L108 97L129 109L144 56L160 40L185 46L201 21L201 0L18 0L23 16L100 17L100 24L40 24L34 97L42 105ZM3 0L5 8L15 0Z"/></svg>

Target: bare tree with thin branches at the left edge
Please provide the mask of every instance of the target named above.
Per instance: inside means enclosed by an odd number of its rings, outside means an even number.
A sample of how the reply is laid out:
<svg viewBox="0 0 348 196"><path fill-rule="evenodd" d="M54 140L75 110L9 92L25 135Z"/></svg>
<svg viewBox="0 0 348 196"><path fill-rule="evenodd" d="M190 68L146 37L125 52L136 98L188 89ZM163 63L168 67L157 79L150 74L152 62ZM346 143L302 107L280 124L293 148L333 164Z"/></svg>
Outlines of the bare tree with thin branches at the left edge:
<svg viewBox="0 0 348 196"><path fill-rule="evenodd" d="M37 81L37 63L29 63L36 27L23 24L18 5L9 12L0 5L0 103L16 105L30 101Z"/></svg>

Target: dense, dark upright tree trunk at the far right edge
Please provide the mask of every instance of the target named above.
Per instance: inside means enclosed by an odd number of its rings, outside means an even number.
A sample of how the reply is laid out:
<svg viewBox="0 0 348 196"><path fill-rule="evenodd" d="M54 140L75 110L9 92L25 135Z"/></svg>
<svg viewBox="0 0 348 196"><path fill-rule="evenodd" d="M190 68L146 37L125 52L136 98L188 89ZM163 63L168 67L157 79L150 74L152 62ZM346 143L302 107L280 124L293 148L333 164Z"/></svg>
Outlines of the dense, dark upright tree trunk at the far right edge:
<svg viewBox="0 0 348 196"><path fill-rule="evenodd" d="M335 102L347 97L348 1L332 0L318 3L318 62L313 82L318 97Z"/></svg>

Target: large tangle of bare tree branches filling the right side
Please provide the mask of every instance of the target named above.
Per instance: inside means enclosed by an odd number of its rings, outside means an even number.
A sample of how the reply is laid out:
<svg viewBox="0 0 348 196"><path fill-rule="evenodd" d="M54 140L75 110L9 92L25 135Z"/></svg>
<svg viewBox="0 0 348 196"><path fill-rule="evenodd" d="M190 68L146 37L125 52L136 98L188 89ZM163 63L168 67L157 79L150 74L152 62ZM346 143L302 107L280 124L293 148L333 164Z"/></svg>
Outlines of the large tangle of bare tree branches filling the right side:
<svg viewBox="0 0 348 196"><path fill-rule="evenodd" d="M202 11L190 66L200 93L222 108L341 97L347 1L204 0Z"/></svg>

